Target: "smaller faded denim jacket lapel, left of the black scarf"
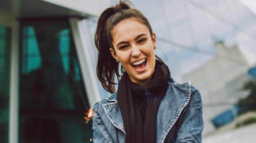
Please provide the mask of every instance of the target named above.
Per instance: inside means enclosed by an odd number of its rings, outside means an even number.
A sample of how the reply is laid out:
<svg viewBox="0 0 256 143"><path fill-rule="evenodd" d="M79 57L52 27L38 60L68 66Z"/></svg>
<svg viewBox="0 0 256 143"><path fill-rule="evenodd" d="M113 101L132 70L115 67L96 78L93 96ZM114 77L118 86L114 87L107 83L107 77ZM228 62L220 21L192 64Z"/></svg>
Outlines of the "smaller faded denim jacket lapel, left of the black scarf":
<svg viewBox="0 0 256 143"><path fill-rule="evenodd" d="M117 104L117 92L113 93L111 96L107 97L106 100L109 101L108 104L103 104L102 107L108 116L111 123L118 129L124 132L124 124L121 115L120 108Z"/></svg>

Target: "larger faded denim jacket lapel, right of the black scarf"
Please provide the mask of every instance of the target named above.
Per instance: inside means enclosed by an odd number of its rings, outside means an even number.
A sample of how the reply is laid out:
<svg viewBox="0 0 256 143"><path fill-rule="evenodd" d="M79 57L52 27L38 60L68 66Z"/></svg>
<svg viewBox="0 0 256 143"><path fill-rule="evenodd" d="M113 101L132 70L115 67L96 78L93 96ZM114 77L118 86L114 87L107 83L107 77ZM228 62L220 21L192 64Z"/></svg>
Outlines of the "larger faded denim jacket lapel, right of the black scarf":
<svg viewBox="0 0 256 143"><path fill-rule="evenodd" d="M184 89L186 90L184 92ZM189 102L190 81L183 84L170 83L157 114L157 143L163 143L166 135L176 123L182 110Z"/></svg>

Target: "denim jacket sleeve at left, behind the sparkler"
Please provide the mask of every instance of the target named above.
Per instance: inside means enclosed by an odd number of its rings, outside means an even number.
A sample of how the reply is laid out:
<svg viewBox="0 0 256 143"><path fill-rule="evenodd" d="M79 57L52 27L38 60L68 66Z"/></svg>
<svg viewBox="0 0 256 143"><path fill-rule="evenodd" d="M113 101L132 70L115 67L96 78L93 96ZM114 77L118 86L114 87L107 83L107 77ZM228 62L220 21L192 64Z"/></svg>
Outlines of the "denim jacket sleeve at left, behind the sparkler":
<svg viewBox="0 0 256 143"><path fill-rule="evenodd" d="M93 142L94 143L113 143L106 127L101 120L98 112L98 103L93 106Z"/></svg>

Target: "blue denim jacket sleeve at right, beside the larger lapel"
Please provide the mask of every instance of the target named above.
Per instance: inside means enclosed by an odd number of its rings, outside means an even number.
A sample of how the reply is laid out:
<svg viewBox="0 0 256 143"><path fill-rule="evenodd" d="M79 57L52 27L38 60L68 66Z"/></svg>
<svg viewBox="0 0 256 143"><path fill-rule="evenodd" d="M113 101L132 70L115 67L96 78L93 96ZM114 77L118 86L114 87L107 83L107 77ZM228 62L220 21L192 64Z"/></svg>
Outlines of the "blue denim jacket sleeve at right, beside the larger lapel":
<svg viewBox="0 0 256 143"><path fill-rule="evenodd" d="M185 108L177 132L176 143L201 143L204 127L202 98L199 91L191 86L190 101Z"/></svg>

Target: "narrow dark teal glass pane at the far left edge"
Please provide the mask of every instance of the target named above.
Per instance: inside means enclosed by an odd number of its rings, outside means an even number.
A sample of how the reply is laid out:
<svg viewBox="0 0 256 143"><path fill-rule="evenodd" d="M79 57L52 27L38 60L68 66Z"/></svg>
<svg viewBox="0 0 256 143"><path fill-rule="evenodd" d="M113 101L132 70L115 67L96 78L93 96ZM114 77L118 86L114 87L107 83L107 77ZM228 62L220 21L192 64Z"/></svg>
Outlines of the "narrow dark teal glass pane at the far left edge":
<svg viewBox="0 0 256 143"><path fill-rule="evenodd" d="M0 25L0 139L8 143L11 29Z"/></svg>

